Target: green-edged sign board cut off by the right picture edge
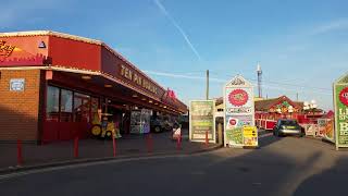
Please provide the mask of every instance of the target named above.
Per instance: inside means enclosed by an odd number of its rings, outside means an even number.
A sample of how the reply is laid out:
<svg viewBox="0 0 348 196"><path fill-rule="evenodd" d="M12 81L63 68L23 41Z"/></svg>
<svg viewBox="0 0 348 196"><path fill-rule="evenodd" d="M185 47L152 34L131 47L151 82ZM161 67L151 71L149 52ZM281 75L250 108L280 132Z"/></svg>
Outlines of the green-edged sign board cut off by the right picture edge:
<svg viewBox="0 0 348 196"><path fill-rule="evenodd" d="M348 74L334 83L336 149L348 147Z"/></svg>

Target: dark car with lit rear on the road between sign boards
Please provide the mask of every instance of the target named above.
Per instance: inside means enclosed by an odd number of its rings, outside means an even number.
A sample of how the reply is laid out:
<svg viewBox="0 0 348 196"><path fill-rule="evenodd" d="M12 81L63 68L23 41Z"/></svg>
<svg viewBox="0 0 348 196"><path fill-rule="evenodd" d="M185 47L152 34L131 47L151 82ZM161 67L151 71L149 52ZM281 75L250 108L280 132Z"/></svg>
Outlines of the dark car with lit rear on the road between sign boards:
<svg viewBox="0 0 348 196"><path fill-rule="evenodd" d="M302 137L304 134L302 132L302 127L297 123L296 120L279 119L273 128L273 135L275 136L295 135L295 136Z"/></svg>

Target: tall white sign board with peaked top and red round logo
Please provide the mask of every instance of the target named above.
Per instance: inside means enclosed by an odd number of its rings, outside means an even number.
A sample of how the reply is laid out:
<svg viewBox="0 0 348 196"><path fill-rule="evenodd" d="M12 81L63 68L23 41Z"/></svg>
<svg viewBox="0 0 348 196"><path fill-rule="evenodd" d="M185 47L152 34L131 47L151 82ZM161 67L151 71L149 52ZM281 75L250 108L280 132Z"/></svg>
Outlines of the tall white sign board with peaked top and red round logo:
<svg viewBox="0 0 348 196"><path fill-rule="evenodd" d="M244 147L244 126L254 126L253 87L237 75L224 86L225 140L227 147Z"/></svg>

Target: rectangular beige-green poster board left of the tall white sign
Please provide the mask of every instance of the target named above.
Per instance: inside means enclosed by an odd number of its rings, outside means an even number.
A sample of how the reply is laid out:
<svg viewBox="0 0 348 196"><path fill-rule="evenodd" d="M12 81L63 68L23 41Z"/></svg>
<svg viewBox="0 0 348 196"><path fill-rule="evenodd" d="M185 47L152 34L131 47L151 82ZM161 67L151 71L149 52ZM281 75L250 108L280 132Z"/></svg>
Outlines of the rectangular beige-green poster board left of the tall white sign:
<svg viewBox="0 0 348 196"><path fill-rule="evenodd" d="M206 142L206 133L210 143L215 143L215 101L190 101L189 112L189 139L192 142Z"/></svg>

